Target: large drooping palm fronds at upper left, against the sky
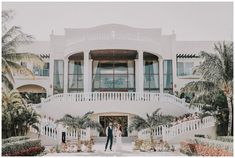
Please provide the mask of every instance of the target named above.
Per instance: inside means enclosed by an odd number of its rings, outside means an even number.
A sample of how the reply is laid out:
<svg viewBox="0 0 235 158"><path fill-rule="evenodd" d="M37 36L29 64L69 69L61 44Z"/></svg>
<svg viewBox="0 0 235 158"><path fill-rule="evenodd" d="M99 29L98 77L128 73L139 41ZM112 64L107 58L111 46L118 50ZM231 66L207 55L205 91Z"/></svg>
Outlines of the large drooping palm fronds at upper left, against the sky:
<svg viewBox="0 0 235 158"><path fill-rule="evenodd" d="M17 53L17 47L21 44L31 43L33 37L22 32L18 26L7 28L7 22L13 17L12 13L11 10L2 11L2 83L5 86L4 89L10 90L14 87L14 72L33 76L31 70L22 66L20 62L31 61L40 67L44 64L38 55L28 52Z"/></svg>

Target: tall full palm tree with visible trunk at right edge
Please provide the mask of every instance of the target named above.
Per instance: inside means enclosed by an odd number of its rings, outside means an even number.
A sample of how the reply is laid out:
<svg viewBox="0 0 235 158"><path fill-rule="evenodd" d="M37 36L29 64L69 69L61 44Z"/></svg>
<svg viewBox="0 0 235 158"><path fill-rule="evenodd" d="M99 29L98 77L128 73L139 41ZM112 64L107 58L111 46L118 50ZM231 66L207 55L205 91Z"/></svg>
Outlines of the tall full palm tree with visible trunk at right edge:
<svg viewBox="0 0 235 158"><path fill-rule="evenodd" d="M194 73L202 75L200 81L190 82L182 88L183 92L195 93L196 98L203 98L211 92L222 90L226 96L229 111L228 133L232 134L233 122L233 43L223 42L215 44L216 54L210 54L202 51L200 57L203 62L195 68ZM204 97L205 98L205 97Z"/></svg>

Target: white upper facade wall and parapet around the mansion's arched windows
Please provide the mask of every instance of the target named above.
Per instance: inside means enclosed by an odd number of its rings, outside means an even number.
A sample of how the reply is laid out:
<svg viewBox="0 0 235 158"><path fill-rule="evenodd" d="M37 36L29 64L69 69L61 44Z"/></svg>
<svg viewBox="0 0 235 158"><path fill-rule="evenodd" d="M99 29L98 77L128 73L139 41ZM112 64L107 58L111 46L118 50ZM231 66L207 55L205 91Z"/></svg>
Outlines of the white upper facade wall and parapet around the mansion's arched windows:
<svg viewBox="0 0 235 158"><path fill-rule="evenodd" d="M64 35L51 34L48 42L39 41L18 48L18 52L49 53L50 77L49 81L46 80L47 83L44 83L44 80L40 78L36 78L32 81L17 81L17 86L23 85L24 82L25 84L27 82L43 84L43 87L48 90L48 94L52 95L53 61L55 59L64 60L73 53L83 51L88 53L89 50L93 49L131 49L147 51L159 56L161 59L172 59L173 88L174 91L179 91L186 83L198 80L198 78L194 76L177 76L176 54L198 54L202 50L213 52L214 43L214 41L176 41L175 34L162 35L161 29L140 29L116 24L86 29L65 29ZM198 63L197 59L195 61Z"/></svg>

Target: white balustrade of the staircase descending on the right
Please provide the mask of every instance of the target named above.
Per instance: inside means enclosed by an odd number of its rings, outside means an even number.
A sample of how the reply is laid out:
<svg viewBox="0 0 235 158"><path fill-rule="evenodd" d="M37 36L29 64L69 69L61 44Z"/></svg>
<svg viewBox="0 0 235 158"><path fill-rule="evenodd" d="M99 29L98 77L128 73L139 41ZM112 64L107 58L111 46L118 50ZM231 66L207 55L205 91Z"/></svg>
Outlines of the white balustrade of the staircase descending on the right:
<svg viewBox="0 0 235 158"><path fill-rule="evenodd" d="M170 140L179 135L185 134L190 131L195 131L203 128L215 126L215 119L213 116L207 116L203 119L194 119L190 121L185 121L174 125L172 127L158 126L154 129L154 137L162 137L163 140ZM149 139L150 130L144 129L138 132L138 138Z"/></svg>

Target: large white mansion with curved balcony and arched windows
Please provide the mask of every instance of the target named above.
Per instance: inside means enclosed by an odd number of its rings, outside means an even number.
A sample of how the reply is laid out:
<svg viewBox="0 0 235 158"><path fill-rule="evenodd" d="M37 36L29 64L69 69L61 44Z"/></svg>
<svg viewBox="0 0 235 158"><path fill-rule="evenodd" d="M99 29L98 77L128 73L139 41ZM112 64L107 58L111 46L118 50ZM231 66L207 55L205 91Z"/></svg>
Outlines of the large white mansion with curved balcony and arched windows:
<svg viewBox="0 0 235 158"><path fill-rule="evenodd" d="M16 88L45 97L38 110L54 120L94 111L104 126L112 119L129 124L131 116L157 108L178 116L194 111L173 94L200 79L192 73L201 61L198 54L213 52L214 43L176 41L174 33L164 35L161 29L117 24L65 29L64 35L52 32L50 41L18 49L40 55L45 66L21 63L36 77L17 75Z"/></svg>

